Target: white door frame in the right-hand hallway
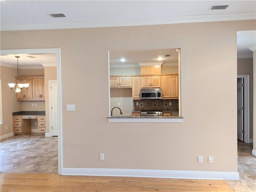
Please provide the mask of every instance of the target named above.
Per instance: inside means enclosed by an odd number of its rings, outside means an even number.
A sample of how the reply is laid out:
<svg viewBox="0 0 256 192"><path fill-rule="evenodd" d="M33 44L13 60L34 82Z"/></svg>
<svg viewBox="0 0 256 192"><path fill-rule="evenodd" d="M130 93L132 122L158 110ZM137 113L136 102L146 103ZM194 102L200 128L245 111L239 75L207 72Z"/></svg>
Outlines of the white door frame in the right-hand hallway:
<svg viewBox="0 0 256 192"><path fill-rule="evenodd" d="M237 75L244 78L244 142L250 143L250 75Z"/></svg>

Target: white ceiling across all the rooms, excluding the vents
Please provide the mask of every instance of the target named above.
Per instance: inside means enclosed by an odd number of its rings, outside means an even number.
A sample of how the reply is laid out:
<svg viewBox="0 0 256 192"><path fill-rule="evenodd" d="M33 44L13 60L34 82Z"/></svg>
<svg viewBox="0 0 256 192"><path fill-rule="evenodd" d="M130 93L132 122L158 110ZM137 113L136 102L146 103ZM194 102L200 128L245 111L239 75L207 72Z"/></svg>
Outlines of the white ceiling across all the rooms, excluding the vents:
<svg viewBox="0 0 256 192"><path fill-rule="evenodd" d="M209 10L212 5L229 6L226 10ZM67 18L51 18L48 15L60 13L65 14ZM0 0L1 31L138 26L251 19L256 19L255 0ZM251 58L252 51L248 48L256 44L256 31L238 32L237 38L238 58ZM145 61L142 58L140 58L140 61L134 60L136 55L129 55L133 59L126 63L156 62L155 59L159 54L167 54L159 53L159 51L148 53L152 59L148 58ZM122 52L120 54L131 53ZM19 65L21 67L26 65L42 66L42 63L56 63L56 56L54 58L54 55L32 55L37 57L36 59L26 57L29 56L29 53L28 55L20 56ZM121 55L112 53L113 61L119 59L119 57ZM174 59L174 57L168 59ZM14 67L17 65L14 55L1 55L0 61ZM165 62L175 63L176 61L168 61L166 58Z"/></svg>

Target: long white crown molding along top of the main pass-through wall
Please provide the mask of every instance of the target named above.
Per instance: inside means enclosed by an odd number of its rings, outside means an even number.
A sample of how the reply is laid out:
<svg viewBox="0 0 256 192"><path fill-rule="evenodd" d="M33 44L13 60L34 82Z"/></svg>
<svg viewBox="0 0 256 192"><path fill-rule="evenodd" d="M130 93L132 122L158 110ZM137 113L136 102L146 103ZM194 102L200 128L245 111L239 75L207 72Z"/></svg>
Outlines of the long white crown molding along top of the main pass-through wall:
<svg viewBox="0 0 256 192"><path fill-rule="evenodd" d="M7 25L1 24L0 31L144 26L144 25L178 24L178 23L255 20L255 18L256 18L256 13L241 13L241 14L196 15L196 16L166 17L166 18L143 18L143 19L127 19L127 20L54 22L54 23L52 22L52 23L7 24Z"/></svg>

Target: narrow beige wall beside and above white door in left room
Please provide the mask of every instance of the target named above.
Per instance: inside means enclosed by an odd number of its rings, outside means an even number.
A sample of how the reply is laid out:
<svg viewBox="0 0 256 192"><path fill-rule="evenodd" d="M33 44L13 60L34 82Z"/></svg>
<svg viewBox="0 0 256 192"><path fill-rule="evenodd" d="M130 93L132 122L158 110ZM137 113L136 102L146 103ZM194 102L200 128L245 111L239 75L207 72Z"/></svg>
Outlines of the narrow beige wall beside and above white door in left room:
<svg viewBox="0 0 256 192"><path fill-rule="evenodd" d="M49 129L49 80L57 79L57 67L44 67L44 93L45 93L45 118L46 118L46 133L50 133Z"/></svg>

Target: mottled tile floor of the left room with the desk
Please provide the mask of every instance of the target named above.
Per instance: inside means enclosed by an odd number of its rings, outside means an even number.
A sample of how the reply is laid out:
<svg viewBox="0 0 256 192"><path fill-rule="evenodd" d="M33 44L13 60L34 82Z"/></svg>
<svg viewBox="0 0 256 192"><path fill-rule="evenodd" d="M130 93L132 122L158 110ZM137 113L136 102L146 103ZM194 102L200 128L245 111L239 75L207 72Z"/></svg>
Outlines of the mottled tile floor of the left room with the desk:
<svg viewBox="0 0 256 192"><path fill-rule="evenodd" d="M58 174L58 137L32 133L2 139L0 171Z"/></svg>

